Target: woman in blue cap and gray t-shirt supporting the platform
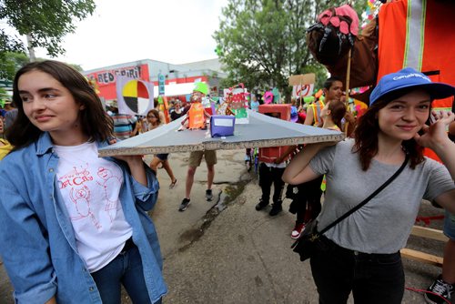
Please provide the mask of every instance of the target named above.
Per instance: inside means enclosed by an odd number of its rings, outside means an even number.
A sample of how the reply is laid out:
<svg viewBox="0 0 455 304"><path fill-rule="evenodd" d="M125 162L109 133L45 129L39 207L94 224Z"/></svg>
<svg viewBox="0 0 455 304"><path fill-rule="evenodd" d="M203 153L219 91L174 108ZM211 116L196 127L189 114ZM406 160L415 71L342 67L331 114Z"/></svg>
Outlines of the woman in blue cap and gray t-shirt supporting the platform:
<svg viewBox="0 0 455 304"><path fill-rule="evenodd" d="M327 189L318 228L327 227L368 198L401 165L389 186L321 238L310 265L319 303L400 303L404 248L421 199L455 212L455 144L446 134L452 113L430 114L431 101L455 95L455 87L432 83L412 68L380 79L354 139L328 147L308 145L283 174L300 184L325 174ZM426 125L431 115L433 123ZM433 149L443 161L423 157Z"/></svg>

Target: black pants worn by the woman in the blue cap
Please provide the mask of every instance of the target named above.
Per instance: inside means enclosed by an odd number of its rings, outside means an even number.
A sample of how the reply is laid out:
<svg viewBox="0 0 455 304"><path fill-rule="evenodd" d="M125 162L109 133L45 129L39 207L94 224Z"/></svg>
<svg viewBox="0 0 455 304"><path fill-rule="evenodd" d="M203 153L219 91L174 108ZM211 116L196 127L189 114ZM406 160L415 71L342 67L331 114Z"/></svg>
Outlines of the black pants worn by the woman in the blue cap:
<svg viewBox="0 0 455 304"><path fill-rule="evenodd" d="M341 248L329 238L310 258L319 303L346 303L352 291L356 304L399 304L404 271L399 252L366 254Z"/></svg>

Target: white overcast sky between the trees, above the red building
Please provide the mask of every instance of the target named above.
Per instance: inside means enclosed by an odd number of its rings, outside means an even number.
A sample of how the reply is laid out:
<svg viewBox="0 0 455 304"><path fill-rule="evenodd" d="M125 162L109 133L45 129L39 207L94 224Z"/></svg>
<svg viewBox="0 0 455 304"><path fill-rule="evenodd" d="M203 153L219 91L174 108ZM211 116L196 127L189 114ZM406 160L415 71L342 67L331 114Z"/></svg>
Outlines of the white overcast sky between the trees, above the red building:
<svg viewBox="0 0 455 304"><path fill-rule="evenodd" d="M172 64L216 58L212 38L227 0L96 0L56 59L85 70L141 59ZM47 57L36 50L36 56Z"/></svg>

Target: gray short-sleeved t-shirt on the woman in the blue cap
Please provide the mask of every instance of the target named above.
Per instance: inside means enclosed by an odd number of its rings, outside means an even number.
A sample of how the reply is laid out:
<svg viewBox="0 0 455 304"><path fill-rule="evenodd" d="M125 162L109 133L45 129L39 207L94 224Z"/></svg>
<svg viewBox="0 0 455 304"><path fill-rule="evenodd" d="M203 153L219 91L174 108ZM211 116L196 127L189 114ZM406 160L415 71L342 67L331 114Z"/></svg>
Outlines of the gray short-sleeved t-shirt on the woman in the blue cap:
<svg viewBox="0 0 455 304"><path fill-rule="evenodd" d="M324 148L309 163L317 174L326 174L319 230L369 197L399 168L373 159L369 169L363 171L359 155L352 153L353 144L347 139ZM433 200L454 188L447 168L426 158L415 169L405 167L388 187L325 235L343 248L366 253L397 252L406 246L421 199Z"/></svg>

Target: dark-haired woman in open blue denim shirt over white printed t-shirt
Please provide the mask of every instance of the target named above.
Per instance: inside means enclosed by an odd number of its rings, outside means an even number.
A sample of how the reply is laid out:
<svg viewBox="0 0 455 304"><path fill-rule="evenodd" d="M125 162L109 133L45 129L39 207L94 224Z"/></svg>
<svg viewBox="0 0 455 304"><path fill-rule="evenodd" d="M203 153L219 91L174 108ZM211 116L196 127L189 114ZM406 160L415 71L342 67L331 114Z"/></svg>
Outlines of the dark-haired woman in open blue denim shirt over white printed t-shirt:
<svg viewBox="0 0 455 304"><path fill-rule="evenodd" d="M140 156L97 157L112 121L85 77L56 61L14 81L18 116L0 163L0 253L19 303L135 303L167 292Z"/></svg>

